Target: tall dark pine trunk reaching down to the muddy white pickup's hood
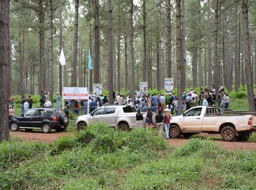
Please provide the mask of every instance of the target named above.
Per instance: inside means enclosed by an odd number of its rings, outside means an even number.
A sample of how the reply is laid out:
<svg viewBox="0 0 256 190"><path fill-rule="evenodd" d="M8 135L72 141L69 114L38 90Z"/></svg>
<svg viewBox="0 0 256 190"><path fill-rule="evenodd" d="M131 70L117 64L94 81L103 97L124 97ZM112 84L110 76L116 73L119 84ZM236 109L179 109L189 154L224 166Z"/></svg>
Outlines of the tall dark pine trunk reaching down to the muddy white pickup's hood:
<svg viewBox="0 0 256 190"><path fill-rule="evenodd" d="M177 76L178 76L178 87L181 84L182 78L182 65L181 65L181 11L180 11L181 0L176 0L176 45L177 45ZM182 89L178 88L178 115L182 113Z"/></svg>

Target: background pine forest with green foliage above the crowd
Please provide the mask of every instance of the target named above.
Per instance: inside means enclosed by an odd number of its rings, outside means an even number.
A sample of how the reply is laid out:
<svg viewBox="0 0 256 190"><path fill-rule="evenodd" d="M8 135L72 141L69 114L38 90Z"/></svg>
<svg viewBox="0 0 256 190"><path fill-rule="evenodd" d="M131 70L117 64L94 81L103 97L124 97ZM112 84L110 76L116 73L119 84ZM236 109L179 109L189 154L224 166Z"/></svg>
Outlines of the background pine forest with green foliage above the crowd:
<svg viewBox="0 0 256 190"><path fill-rule="evenodd" d="M158 90L164 88L166 77L178 81L176 1L134 1L131 28L128 23L132 1L113 0L111 9L109 2L51 0L49 9L48 0L11 0L12 94L61 91L61 46L67 62L63 67L63 86L87 87L89 49L93 60L90 84L102 83L104 90L109 90L109 82L113 83L114 91L120 91L132 86L137 89L141 81L148 81L149 88ZM249 0L248 7L252 79L256 83L256 3ZM181 0L182 91L220 83L229 91L235 84L238 90L240 84L246 84L245 53L242 1Z"/></svg>

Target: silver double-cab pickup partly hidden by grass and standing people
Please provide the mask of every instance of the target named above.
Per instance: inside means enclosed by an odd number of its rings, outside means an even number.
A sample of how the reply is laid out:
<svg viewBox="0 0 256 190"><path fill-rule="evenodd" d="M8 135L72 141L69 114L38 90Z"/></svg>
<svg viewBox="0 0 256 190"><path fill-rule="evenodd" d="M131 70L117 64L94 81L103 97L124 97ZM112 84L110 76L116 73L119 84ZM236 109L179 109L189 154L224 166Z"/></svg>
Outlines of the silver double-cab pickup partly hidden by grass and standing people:
<svg viewBox="0 0 256 190"><path fill-rule="evenodd" d="M134 106L102 106L94 110L90 114L81 115L76 118L76 129L81 130L89 126L91 122L105 122L110 127L118 128L123 131L133 129L136 126L137 110ZM144 114L145 112L142 112ZM144 123L145 123L144 118ZM155 113L153 112L153 124L155 123Z"/></svg>

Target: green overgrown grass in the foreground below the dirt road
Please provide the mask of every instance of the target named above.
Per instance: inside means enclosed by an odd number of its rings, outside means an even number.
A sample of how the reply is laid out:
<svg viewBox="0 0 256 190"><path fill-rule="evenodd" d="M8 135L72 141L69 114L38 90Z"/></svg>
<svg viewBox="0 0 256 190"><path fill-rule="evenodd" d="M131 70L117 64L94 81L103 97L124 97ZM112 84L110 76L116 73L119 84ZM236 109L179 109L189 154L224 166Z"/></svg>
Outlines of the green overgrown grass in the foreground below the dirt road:
<svg viewBox="0 0 256 190"><path fill-rule="evenodd" d="M28 142L26 142L28 143ZM0 144L0 189L254 189L256 153L210 140L174 148L153 131L103 123L53 144ZM13 147L13 148L6 148ZM28 146L30 145L30 146ZM23 146L23 147L22 147ZM41 147L41 148L38 148ZM10 152L12 152L11 157ZM15 161L13 161L15 160Z"/></svg>

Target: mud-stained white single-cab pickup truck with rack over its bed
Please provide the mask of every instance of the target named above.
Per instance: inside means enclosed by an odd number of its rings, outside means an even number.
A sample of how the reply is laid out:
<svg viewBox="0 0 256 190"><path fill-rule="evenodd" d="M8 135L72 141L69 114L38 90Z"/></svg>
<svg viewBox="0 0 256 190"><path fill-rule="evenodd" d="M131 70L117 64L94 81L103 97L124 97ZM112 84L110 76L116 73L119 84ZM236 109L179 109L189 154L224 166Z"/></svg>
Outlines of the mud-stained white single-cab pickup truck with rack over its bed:
<svg viewBox="0 0 256 190"><path fill-rule="evenodd" d="M197 106L173 117L169 137L187 138L193 134L221 134L225 141L247 141L256 132L256 113L224 111L217 106Z"/></svg>

